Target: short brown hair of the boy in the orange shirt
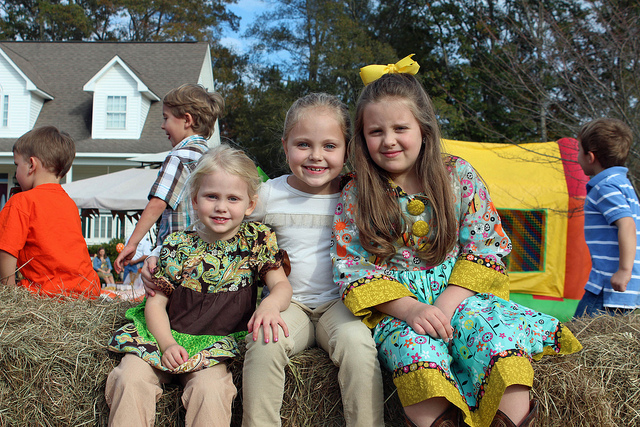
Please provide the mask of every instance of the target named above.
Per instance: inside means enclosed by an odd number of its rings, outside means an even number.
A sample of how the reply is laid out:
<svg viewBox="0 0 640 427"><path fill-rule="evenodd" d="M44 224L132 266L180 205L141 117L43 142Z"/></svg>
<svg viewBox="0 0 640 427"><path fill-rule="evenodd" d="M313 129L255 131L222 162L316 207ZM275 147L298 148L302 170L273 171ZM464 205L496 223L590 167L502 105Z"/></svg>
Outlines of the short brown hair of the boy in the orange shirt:
<svg viewBox="0 0 640 427"><path fill-rule="evenodd" d="M36 157L49 172L62 178L76 157L76 145L68 133L55 126L42 126L18 138L13 144L13 154L25 159Z"/></svg>

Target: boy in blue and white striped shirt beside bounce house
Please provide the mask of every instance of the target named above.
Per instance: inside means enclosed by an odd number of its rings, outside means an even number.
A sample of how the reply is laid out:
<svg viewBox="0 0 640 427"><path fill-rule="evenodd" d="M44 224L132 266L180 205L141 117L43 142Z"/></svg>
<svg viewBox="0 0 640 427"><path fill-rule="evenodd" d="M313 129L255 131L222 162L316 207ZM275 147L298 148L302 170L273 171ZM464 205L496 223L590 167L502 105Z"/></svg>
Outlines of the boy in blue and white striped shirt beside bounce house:
<svg viewBox="0 0 640 427"><path fill-rule="evenodd" d="M591 121L578 133L578 163L591 177L584 235L592 265L576 316L640 307L640 205L623 166L632 141L629 126L617 119Z"/></svg>

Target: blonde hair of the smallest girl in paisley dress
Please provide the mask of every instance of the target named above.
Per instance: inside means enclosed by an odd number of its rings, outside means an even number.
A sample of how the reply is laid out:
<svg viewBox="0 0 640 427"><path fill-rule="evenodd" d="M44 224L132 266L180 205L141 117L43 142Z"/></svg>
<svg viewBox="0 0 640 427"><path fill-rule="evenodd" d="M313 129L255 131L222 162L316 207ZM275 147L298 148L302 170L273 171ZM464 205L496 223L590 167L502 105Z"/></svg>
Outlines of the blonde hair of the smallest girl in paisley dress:
<svg viewBox="0 0 640 427"><path fill-rule="evenodd" d="M249 198L253 198L258 193L262 180L253 160L242 150L220 144L204 153L191 173L189 177L191 199L195 199L198 195L204 177L219 170L238 176L246 182Z"/></svg>

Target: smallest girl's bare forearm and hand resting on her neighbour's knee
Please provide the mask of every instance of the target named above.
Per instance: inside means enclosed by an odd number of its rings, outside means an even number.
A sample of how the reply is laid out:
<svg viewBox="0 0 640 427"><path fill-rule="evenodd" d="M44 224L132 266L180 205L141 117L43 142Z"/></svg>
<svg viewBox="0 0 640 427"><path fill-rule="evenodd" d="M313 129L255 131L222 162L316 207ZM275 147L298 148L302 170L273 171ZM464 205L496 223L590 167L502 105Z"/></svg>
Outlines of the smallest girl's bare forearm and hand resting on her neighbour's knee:
<svg viewBox="0 0 640 427"><path fill-rule="evenodd" d="M264 282L269 288L269 296L260 302L249 320L247 329L253 334L254 341L258 340L260 326L263 327L264 342L269 342L271 335L273 335L273 341L278 341L278 325L282 327L284 335L289 336L289 328L282 320L280 312L289 307L293 290L282 267L267 272Z"/></svg>

